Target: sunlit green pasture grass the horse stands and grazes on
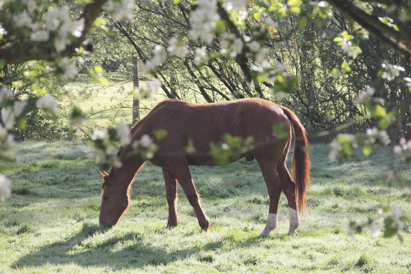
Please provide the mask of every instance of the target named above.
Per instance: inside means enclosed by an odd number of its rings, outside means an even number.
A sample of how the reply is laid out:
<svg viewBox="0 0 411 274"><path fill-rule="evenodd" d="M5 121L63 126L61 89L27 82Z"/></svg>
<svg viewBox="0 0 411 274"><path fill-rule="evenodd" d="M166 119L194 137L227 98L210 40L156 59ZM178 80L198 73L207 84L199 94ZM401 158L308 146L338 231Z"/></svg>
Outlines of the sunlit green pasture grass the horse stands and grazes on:
<svg viewBox="0 0 411 274"><path fill-rule="evenodd" d="M299 236L286 236L282 195L277 231L260 238L269 198L256 162L192 167L208 233L180 188L180 224L166 229L162 173L151 164L136 178L129 212L107 230L98 226L102 182L86 143L18 144L16 162L0 166L13 182L12 198L0 205L0 273L410 273L411 204L384 183L388 149L343 165L330 163L327 150L312 147ZM409 167L398 166L410 184ZM348 238L349 220L376 217L381 203L404 212L404 242Z"/></svg>

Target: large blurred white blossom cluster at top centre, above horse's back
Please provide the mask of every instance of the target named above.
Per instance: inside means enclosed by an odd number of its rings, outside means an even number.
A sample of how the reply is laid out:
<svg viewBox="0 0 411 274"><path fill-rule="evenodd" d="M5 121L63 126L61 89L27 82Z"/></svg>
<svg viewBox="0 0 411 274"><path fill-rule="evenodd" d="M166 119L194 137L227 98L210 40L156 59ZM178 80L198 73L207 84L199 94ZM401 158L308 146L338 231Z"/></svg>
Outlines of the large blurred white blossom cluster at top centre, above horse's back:
<svg viewBox="0 0 411 274"><path fill-rule="evenodd" d="M216 21L219 20L217 15L216 0L199 0L197 8L191 11L190 35L193 38L200 38L206 42L212 42L214 39L214 29Z"/></svg>

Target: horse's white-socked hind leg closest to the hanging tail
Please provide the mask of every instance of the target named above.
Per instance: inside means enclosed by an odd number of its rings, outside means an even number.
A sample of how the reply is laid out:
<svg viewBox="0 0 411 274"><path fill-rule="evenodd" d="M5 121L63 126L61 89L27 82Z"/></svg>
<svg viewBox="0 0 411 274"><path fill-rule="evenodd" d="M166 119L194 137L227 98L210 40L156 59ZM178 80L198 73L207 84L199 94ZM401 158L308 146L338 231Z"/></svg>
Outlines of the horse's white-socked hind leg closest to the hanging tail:
<svg viewBox="0 0 411 274"><path fill-rule="evenodd" d="M286 168L285 162L279 162L277 165L279 179L282 182L282 190L287 197L288 211L290 212L290 229L288 235L297 234L295 232L299 227L299 217L297 213L297 199L295 197L295 182L291 178Z"/></svg>

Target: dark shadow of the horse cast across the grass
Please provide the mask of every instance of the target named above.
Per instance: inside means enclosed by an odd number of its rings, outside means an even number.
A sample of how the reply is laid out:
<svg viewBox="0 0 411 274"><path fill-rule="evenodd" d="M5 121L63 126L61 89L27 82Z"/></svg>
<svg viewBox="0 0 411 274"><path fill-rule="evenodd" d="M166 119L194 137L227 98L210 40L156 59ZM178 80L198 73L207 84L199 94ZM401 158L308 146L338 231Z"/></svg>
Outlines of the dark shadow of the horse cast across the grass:
<svg viewBox="0 0 411 274"><path fill-rule="evenodd" d="M147 245L144 242L144 234L139 232L113 236L97 243L88 241L88 238L104 234L107 231L108 229L103 229L98 225L84 224L82 231L71 238L45 245L40 250L29 253L14 262L12 267L21 269L23 267L29 268L49 264L64 265L73 263L80 266L107 267L113 271L119 271L121 269L143 268L148 265L167 265L177 260L191 258L203 251L221 249L227 244L237 247L249 247L273 239L251 236L241 240L233 240L230 236L226 236L220 240L207 242L201 247L195 245L177 250L167 250L164 247ZM284 238L282 236L278 237ZM127 242L132 242L132 245L126 245L124 248L119 247L119 245L124 245Z"/></svg>

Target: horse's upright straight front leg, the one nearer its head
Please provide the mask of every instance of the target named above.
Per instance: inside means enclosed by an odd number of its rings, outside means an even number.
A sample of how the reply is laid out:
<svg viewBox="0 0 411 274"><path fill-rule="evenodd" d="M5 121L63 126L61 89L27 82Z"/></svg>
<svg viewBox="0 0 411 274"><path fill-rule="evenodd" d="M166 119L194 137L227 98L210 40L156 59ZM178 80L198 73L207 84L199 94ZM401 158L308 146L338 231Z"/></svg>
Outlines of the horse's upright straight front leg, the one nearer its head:
<svg viewBox="0 0 411 274"><path fill-rule="evenodd" d="M166 182L166 197L169 204L169 221L167 227L176 227L178 225L177 216L177 179L168 169L162 169L164 182Z"/></svg>

